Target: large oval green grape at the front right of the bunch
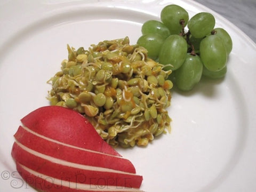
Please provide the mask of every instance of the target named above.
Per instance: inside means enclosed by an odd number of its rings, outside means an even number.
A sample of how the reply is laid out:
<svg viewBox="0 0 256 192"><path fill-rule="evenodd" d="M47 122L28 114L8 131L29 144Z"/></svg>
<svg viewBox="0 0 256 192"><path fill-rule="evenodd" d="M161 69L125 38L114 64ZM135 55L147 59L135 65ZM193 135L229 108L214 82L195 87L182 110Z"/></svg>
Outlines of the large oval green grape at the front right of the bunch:
<svg viewBox="0 0 256 192"><path fill-rule="evenodd" d="M227 51L222 39L216 35L205 37L200 43L200 57L210 71L219 71L226 66Z"/></svg>

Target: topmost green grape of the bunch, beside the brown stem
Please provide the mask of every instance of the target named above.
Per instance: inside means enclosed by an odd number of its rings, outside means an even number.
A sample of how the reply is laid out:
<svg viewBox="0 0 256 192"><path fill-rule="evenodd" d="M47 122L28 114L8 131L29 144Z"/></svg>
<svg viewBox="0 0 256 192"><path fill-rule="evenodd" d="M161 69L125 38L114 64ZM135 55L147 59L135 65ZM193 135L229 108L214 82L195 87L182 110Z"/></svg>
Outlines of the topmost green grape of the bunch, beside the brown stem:
<svg viewBox="0 0 256 192"><path fill-rule="evenodd" d="M184 21L184 26L188 22L188 12L179 5L167 5L161 11L161 20L167 26L171 34L179 34L182 31L180 21Z"/></svg>

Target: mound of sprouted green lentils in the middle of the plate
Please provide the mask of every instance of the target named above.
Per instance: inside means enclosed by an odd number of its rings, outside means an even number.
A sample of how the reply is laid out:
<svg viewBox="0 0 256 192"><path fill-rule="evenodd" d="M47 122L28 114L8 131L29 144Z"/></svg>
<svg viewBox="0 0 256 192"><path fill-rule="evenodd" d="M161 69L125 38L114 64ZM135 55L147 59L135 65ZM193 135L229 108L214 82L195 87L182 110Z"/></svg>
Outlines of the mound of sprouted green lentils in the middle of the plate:
<svg viewBox="0 0 256 192"><path fill-rule="evenodd" d="M171 70L130 45L128 37L75 50L50 80L51 105L74 109L93 124L110 145L146 146L170 131Z"/></svg>

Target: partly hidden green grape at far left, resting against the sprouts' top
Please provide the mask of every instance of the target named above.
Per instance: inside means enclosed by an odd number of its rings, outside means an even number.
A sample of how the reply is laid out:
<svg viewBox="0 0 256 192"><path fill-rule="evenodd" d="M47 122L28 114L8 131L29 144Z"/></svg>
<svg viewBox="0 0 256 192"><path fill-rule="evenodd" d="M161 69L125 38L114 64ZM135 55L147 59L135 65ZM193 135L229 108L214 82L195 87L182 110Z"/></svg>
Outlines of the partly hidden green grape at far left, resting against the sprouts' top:
<svg viewBox="0 0 256 192"><path fill-rule="evenodd" d="M162 44L164 43L164 37L159 34L145 34L142 35L137 44L145 47L148 50L148 57L155 59L158 57Z"/></svg>

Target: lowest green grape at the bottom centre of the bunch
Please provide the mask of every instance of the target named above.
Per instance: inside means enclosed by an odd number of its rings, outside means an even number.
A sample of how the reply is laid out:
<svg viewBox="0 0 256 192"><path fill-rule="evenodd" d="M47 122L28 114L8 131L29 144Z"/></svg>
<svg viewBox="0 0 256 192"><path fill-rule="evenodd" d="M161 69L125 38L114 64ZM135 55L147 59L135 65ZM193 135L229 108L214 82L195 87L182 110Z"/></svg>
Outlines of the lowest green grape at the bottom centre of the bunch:
<svg viewBox="0 0 256 192"><path fill-rule="evenodd" d="M198 55L187 54L182 66L174 71L175 84L182 91L189 91L202 77L203 63Z"/></svg>

